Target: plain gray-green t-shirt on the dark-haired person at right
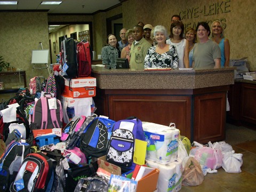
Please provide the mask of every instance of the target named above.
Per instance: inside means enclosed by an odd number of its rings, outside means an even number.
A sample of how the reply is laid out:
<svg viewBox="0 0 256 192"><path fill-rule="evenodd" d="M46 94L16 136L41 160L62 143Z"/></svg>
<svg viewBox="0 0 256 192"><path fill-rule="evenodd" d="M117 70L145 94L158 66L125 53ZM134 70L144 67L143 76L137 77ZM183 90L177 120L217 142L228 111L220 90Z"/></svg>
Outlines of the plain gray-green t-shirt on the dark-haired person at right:
<svg viewBox="0 0 256 192"><path fill-rule="evenodd" d="M193 61L196 69L213 69L214 59L220 59L220 47L217 43L207 41L206 43L196 43L194 45Z"/></svg>

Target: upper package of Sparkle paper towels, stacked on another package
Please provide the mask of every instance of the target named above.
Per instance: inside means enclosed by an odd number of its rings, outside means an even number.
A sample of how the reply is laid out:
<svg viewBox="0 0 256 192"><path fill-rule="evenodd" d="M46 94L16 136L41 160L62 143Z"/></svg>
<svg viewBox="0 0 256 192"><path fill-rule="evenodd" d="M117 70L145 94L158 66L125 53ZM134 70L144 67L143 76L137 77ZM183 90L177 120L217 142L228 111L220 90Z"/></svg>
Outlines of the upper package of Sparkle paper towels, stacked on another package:
<svg viewBox="0 0 256 192"><path fill-rule="evenodd" d="M161 164L173 162L178 158L179 130L156 123L142 122L146 135L146 159Z"/></svg>

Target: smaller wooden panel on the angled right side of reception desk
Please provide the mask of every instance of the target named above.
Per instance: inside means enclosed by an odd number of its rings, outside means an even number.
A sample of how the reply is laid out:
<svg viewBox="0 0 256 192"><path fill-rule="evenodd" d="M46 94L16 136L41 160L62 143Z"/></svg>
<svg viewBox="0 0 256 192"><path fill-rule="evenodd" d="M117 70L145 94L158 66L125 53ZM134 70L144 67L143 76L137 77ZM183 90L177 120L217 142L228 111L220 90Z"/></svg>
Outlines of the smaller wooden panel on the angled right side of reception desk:
<svg viewBox="0 0 256 192"><path fill-rule="evenodd" d="M195 96L194 115L195 141L199 143L207 143L209 141L214 142L225 139L225 92Z"/></svg>

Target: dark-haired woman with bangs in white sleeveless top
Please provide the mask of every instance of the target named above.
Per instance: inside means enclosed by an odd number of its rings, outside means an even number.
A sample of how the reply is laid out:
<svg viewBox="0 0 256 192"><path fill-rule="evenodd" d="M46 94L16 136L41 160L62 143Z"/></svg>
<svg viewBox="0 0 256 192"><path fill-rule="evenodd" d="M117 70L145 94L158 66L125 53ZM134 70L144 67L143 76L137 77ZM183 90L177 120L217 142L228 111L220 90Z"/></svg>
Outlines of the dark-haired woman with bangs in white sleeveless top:
<svg viewBox="0 0 256 192"><path fill-rule="evenodd" d="M174 45L177 49L179 57L179 68L188 68L188 46L187 40L183 38L184 25L181 21L174 21L170 28L170 39L166 41L167 44ZM186 45L187 44L187 45Z"/></svg>

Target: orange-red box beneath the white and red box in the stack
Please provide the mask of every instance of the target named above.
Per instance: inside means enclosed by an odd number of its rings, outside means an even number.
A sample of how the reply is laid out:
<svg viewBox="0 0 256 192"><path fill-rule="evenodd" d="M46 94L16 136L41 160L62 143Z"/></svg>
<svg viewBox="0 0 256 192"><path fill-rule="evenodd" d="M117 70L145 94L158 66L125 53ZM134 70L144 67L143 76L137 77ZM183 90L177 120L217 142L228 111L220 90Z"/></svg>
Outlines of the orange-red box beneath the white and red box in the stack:
<svg viewBox="0 0 256 192"><path fill-rule="evenodd" d="M86 97L95 97L96 95L96 87L64 87L63 94L67 95L67 97L71 98L86 98Z"/></svg>

